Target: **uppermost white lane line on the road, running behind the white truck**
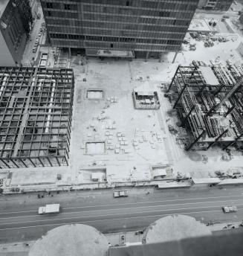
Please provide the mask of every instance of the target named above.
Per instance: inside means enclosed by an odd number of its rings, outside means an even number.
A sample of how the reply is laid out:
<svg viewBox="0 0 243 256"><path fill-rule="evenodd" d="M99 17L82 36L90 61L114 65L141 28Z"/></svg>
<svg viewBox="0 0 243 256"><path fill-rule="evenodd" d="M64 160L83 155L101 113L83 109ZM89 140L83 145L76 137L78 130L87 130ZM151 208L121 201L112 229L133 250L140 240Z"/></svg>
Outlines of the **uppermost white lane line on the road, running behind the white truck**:
<svg viewBox="0 0 243 256"><path fill-rule="evenodd" d="M198 199L218 199L218 198L232 198L232 197L241 197L243 198L242 194L239 196L212 196L212 197L196 197L196 198L187 198L187 199L175 199L175 200L157 200L157 201L146 201L146 202L126 202L126 203L119 203L119 204L108 204L108 205L87 205L87 206L77 206L77 207L68 207L68 208L62 208L63 210L68 209L78 209L78 208L97 208L97 207L106 207L106 206L114 206L114 205L140 205L140 204L147 204L147 203L154 203L154 202L177 202L177 201L187 201L187 200L198 200ZM235 201L234 199L232 199ZM198 203L198 202L197 202ZM50 203L47 203L50 204ZM187 203L186 203L187 204ZM180 205L180 204L178 204ZM147 205L145 205L147 206ZM38 207L38 206L37 206ZM99 210L101 211L101 210ZM30 212L36 212L36 211L9 211L9 212L0 212L1 214L20 214L20 213L30 213ZM36 215L33 215L36 216Z"/></svg>

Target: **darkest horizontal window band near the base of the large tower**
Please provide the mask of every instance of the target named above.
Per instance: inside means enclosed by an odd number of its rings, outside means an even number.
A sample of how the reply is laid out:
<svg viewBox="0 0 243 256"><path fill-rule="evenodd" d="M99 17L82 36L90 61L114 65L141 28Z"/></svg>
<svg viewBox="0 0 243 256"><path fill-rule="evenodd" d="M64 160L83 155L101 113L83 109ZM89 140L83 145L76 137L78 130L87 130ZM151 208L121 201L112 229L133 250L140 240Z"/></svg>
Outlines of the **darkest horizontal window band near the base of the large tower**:
<svg viewBox="0 0 243 256"><path fill-rule="evenodd" d="M181 40L172 39L143 39L143 38L132 38L132 37L113 37L113 36L84 36L74 35L66 33L50 33L49 36L53 39L71 39L71 40L88 40L88 41L103 41L103 42L136 42L146 44L161 44L161 45L180 45Z"/></svg>

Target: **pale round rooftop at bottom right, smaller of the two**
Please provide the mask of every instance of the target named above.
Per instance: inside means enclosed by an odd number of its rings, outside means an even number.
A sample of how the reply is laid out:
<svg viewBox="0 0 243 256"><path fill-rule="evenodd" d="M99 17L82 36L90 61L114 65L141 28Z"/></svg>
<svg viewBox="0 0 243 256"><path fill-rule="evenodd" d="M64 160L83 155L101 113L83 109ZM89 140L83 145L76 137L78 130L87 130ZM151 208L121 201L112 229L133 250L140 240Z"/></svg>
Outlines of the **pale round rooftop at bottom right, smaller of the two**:
<svg viewBox="0 0 243 256"><path fill-rule="evenodd" d="M162 243L188 237L211 235L210 229L186 215L170 215L156 220L146 228L143 243Z"/></svg>

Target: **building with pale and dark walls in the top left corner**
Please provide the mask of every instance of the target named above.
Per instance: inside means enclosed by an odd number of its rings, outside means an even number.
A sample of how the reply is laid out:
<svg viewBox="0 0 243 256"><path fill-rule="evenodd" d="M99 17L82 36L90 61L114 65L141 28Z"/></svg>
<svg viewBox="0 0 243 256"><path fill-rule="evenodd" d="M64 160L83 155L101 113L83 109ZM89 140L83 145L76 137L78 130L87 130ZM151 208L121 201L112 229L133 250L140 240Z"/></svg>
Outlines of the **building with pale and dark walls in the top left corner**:
<svg viewBox="0 0 243 256"><path fill-rule="evenodd" d="M17 65L25 51L26 33L13 0L0 1L0 65Z"/></svg>

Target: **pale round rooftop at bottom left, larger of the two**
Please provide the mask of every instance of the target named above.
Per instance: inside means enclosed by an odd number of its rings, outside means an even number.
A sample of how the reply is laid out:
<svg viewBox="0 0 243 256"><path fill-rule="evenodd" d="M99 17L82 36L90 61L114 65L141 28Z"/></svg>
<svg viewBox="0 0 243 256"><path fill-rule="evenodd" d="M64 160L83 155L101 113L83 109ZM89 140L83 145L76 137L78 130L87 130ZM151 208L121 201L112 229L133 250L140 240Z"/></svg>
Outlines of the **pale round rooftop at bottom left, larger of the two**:
<svg viewBox="0 0 243 256"><path fill-rule="evenodd" d="M106 237L89 225L62 225L48 231L30 248L29 256L105 256Z"/></svg>

